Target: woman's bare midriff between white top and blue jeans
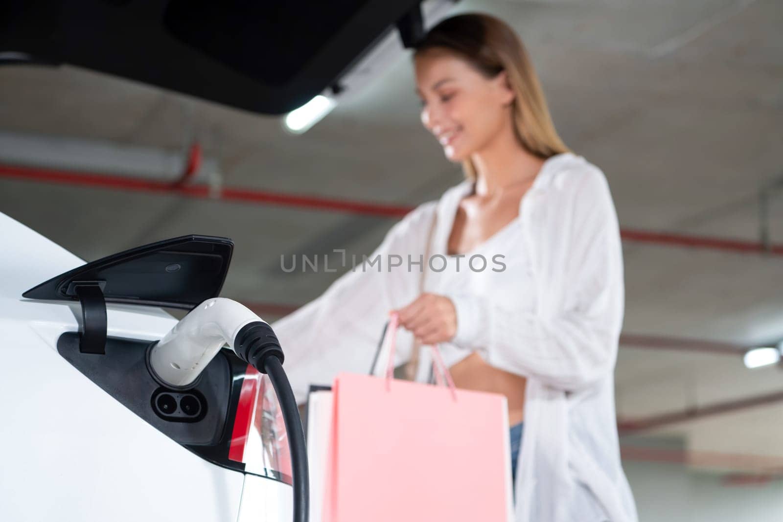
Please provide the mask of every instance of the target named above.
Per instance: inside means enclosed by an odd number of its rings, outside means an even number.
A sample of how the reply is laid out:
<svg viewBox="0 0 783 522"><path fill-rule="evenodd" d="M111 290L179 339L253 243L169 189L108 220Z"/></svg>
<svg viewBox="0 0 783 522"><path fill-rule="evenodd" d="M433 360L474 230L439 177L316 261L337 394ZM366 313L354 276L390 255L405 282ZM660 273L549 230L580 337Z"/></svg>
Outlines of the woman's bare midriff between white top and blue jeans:
<svg viewBox="0 0 783 522"><path fill-rule="evenodd" d="M476 351L451 366L449 373L454 385L462 390L505 395L508 400L509 426L525 419L525 377L489 365Z"/></svg>

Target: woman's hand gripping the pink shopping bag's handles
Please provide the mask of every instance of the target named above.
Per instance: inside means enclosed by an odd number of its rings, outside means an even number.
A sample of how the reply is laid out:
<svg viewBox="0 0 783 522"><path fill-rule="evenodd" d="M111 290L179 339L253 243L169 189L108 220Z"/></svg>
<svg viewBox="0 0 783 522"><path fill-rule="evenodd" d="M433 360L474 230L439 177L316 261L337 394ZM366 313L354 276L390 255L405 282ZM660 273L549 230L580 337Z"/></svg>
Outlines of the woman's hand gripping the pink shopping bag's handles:
<svg viewBox="0 0 783 522"><path fill-rule="evenodd" d="M456 308L446 296L422 293L397 313L400 326L410 330L420 344L445 343L456 334Z"/></svg>

